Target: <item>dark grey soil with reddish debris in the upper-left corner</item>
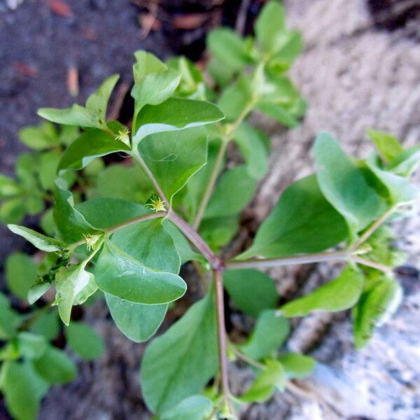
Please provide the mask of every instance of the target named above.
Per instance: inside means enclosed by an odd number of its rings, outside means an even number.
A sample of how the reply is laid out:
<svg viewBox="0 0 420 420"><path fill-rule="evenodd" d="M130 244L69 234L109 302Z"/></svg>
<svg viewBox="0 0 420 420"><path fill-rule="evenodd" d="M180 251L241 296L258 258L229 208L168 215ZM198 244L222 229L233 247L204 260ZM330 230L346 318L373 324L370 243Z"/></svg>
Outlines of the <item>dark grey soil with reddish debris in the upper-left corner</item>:
<svg viewBox="0 0 420 420"><path fill-rule="evenodd" d="M13 174L16 156L25 151L18 130L40 122L38 108L83 103L113 73L130 85L133 52L139 49L162 59L173 54L200 59L207 31L235 25L241 1L162 0L155 10L159 28L147 36L139 22L153 11L151 1L25 0L15 10L5 4L0 0L0 172ZM260 6L258 0L250 2L245 31L251 30ZM201 15L202 24L188 22L191 15ZM69 68L78 73L76 97L67 86ZM7 253L23 241L3 226L0 238L1 267Z"/></svg>

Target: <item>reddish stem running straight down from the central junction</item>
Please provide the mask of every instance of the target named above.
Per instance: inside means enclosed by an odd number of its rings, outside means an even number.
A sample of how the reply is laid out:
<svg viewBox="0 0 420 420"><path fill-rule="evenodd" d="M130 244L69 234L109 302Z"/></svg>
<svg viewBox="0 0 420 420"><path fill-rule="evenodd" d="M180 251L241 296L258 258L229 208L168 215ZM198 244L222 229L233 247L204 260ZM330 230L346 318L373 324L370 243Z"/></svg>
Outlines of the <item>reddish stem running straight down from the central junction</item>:
<svg viewBox="0 0 420 420"><path fill-rule="evenodd" d="M228 377L228 356L225 330L225 301L223 297L222 270L213 270L214 293L216 295L216 314L218 332L218 353L221 368L221 391L223 398L230 400L229 377Z"/></svg>

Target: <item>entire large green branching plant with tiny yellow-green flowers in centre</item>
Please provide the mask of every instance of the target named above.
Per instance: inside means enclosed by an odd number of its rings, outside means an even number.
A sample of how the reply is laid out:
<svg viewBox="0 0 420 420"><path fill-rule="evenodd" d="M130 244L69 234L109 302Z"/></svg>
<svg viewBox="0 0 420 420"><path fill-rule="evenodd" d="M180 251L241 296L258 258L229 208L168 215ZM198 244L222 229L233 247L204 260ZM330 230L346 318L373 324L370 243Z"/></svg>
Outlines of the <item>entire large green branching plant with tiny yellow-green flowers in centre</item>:
<svg viewBox="0 0 420 420"><path fill-rule="evenodd" d="M330 134L320 134L314 146L316 174L283 192L251 248L224 258L221 248L237 233L239 214L267 169L267 141L246 122L249 113L258 109L293 126L304 112L302 98L284 74L300 50L300 36L284 28L279 3L265 6L255 33L255 40L228 29L210 35L215 90L183 57L166 65L137 52L130 129L106 120L116 76L85 106L41 109L39 115L53 123L83 129L57 168L57 237L9 225L55 261L52 275L40 277L29 290L31 301L55 283L55 304L68 325L73 305L101 290L118 328L136 342L154 335L169 304L186 293L180 266L195 263L204 297L153 339L141 364L144 400L160 419L237 418L241 403L267 400L288 379L313 367L306 356L279 353L288 334L285 317L353 307L361 347L400 296L392 274L398 253L383 224L414 200L416 190L407 178L419 163L420 147L404 150L381 132L370 132L379 155L366 160L349 158ZM244 164L226 169L225 151L232 141ZM111 153L137 162L148 198L97 197L75 204L63 176ZM126 179L131 182L136 180ZM337 279L280 308L274 284L258 270L328 261L344 262ZM244 343L230 342L226 335L224 288L239 310L257 318ZM229 358L255 368L255 381L243 395L230 391Z"/></svg>

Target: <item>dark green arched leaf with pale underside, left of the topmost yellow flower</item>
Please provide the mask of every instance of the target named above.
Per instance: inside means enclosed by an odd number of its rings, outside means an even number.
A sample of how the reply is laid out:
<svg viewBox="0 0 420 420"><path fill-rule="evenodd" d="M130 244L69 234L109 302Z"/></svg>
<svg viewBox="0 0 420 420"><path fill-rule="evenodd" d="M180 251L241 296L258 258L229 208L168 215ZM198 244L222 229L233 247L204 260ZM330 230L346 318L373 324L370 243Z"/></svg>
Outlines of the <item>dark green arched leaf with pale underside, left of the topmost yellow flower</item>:
<svg viewBox="0 0 420 420"><path fill-rule="evenodd" d="M83 169L95 158L127 151L130 148L111 134L99 129L87 130L66 148L59 161L58 171L61 175L69 169Z"/></svg>

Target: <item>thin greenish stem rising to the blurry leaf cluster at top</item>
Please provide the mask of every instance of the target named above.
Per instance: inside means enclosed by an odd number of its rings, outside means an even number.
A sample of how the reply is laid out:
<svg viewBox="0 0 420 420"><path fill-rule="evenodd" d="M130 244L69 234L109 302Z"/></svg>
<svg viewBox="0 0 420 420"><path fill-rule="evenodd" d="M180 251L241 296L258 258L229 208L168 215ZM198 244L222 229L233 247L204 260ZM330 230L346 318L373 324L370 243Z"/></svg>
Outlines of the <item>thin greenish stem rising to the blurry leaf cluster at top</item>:
<svg viewBox="0 0 420 420"><path fill-rule="evenodd" d="M247 106L245 106L244 110L241 112L235 123L230 125L229 130L227 133L224 134L222 139L221 148L218 150L216 162L214 164L213 170L211 171L209 183L207 183L206 190L204 190L204 195L202 197L202 201L200 202L200 206L198 207L197 214L194 219L193 228L197 230L200 227L200 223L204 216L204 211L206 211L207 204L209 204L209 200L211 194L213 193L214 186L216 185L218 174L221 170L221 165L223 162L223 158L225 157L226 149L228 148L229 142L232 140L233 134L237 130L237 127L244 121L248 113L250 113L253 109L254 102L251 101Z"/></svg>

